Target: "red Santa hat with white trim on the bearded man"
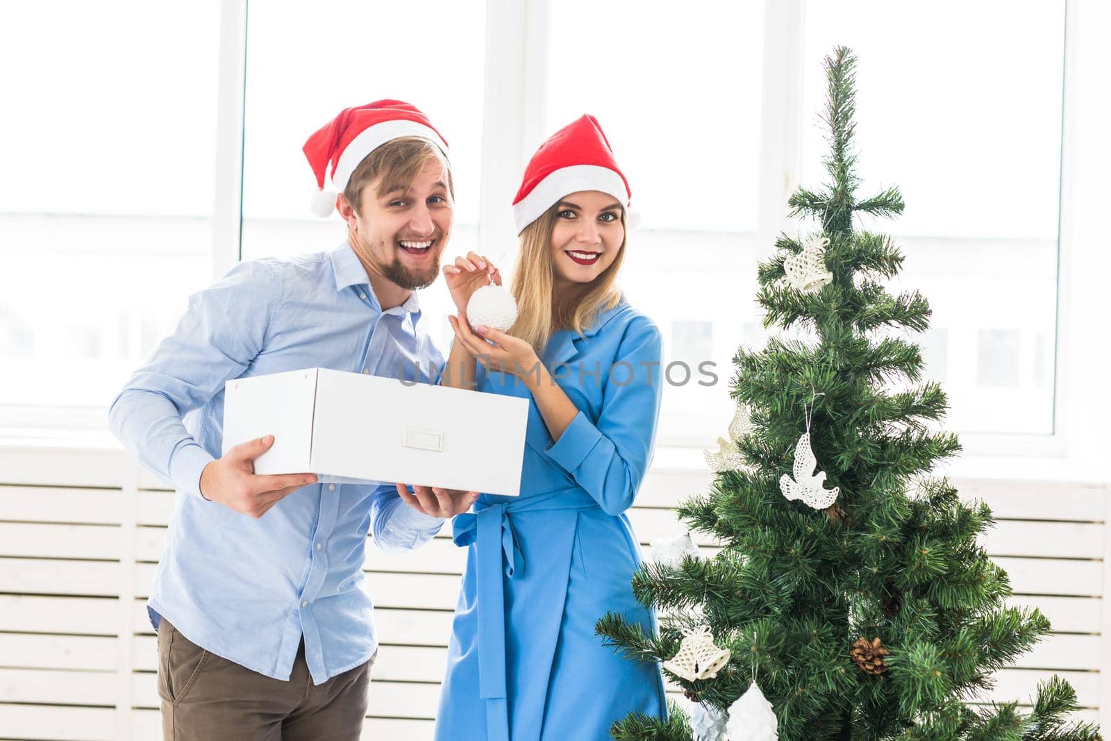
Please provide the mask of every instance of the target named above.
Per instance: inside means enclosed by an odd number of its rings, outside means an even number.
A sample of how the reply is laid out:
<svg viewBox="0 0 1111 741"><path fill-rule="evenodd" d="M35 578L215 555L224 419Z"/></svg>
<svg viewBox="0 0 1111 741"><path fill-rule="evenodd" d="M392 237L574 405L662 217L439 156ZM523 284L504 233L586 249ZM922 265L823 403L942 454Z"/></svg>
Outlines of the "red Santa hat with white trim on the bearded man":
<svg viewBox="0 0 1111 741"><path fill-rule="evenodd" d="M402 137L428 139L448 156L448 142L432 128L428 117L416 106L400 100L376 100L366 106L344 108L322 129L309 137L302 151L317 176L317 192L312 212L330 216L336 208L336 193L347 188L351 173L363 158L388 141ZM328 166L332 166L332 187L324 189Z"/></svg>

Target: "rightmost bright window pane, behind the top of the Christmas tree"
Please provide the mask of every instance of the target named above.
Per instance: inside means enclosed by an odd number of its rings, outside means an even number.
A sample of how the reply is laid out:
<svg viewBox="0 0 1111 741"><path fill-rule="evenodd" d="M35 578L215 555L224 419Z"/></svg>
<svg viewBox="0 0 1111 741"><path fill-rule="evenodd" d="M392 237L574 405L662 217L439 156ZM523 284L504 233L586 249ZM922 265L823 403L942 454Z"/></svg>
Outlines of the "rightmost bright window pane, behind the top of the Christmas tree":
<svg viewBox="0 0 1111 741"><path fill-rule="evenodd" d="M900 289L933 308L928 373L945 381L945 427L1053 431L1064 2L807 6L803 106L821 110L821 59L858 54L862 196L898 184L905 212L864 220L907 260ZM824 181L825 144L804 121L802 182ZM942 371L944 372L944 371Z"/></svg>

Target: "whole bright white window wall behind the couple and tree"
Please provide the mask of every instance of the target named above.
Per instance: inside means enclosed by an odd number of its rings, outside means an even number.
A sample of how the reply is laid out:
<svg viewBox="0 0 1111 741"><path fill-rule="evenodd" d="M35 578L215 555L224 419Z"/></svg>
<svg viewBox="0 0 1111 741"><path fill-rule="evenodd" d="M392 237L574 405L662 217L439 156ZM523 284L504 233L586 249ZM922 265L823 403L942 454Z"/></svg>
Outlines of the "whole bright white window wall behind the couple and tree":
<svg viewBox="0 0 1111 741"><path fill-rule="evenodd" d="M474 249L507 277L524 159L583 112L599 118L641 217L622 287L660 326L665 361L692 370L665 384L659 442L711 444L732 418L738 346L755 350L765 337L755 269L771 250L768 194L783 187L774 170L823 180L820 64L845 44L860 58L863 188L897 183L908 204L865 226L904 249L892 289L920 289L933 307L932 329L914 339L950 395L947 429L1051 433L1064 2L1021 13L1001 0L939 2L804 2L801 20L771 2L251 2L242 56L222 62L221 9L239 1L10 11L0 61L39 73L0 83L23 113L0 140L18 173L0 183L0 427L72 409L102 427L186 297L211 282L213 262L228 267L219 256L337 247L340 219L309 211L301 146L342 108L400 98L451 143L444 259ZM59 46L72 51L44 51ZM224 109L218 123L218 76L244 60L242 124ZM769 94L795 62L801 83ZM801 102L787 104L800 84ZM798 131L800 150L762 127ZM216 142L240 136L241 202L221 201L216 214L221 229L222 209L241 216L237 250L213 243L212 163ZM420 300L446 348L450 297L438 283ZM670 380L682 380L678 369Z"/></svg>

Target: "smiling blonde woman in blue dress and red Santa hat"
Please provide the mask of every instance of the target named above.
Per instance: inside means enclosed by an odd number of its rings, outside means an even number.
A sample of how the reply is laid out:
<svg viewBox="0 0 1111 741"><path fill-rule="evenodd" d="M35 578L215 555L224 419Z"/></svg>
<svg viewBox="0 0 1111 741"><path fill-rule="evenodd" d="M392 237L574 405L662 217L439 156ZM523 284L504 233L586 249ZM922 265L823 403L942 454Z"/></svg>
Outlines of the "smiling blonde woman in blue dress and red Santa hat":
<svg viewBox="0 0 1111 741"><path fill-rule="evenodd" d="M482 494L453 522L468 558L437 739L601 740L630 712L665 712L659 669L594 634L607 612L655 628L633 599L640 555L624 511L652 454L660 332L615 287L628 202L583 116L533 156L513 204L513 327L472 332L463 320L466 297L487 276L500 283L489 260L444 267L460 310L444 383L531 403L520 497Z"/></svg>

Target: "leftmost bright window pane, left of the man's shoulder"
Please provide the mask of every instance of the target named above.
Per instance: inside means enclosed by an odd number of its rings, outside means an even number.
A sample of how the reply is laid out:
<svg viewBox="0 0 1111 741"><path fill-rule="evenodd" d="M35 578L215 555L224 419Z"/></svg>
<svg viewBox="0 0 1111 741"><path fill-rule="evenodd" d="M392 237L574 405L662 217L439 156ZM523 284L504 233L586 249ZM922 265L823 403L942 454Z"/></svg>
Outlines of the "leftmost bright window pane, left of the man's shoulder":
<svg viewBox="0 0 1111 741"><path fill-rule="evenodd" d="M211 280L219 29L216 0L6 9L0 425L102 427Z"/></svg>

